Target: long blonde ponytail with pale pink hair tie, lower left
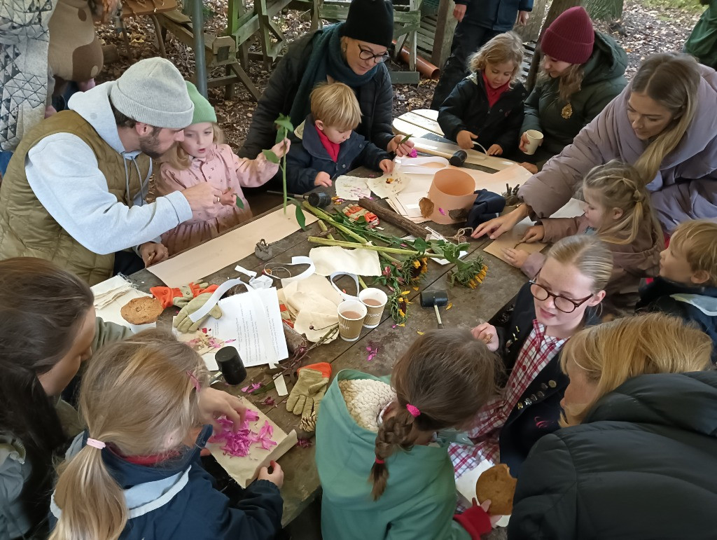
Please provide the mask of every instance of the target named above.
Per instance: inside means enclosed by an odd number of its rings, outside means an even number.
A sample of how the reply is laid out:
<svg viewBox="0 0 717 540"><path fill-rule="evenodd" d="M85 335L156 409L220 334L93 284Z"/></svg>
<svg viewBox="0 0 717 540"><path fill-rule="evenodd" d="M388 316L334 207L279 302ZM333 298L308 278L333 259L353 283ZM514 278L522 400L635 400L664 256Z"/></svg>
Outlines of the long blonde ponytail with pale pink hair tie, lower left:
<svg viewBox="0 0 717 540"><path fill-rule="evenodd" d="M148 330L103 347L82 377L80 415L87 434L119 455L185 448L201 427L199 392L209 374L199 354L167 333ZM54 501L62 514L51 540L118 539L128 519L122 488L102 452L82 447L60 467Z"/></svg>

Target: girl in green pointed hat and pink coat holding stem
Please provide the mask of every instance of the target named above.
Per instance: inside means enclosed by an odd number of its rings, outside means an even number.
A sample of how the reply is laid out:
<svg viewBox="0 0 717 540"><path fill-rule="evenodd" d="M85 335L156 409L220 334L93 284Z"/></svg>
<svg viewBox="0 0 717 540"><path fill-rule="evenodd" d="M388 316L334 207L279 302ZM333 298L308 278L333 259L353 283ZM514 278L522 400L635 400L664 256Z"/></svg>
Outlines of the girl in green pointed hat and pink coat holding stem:
<svg viewBox="0 0 717 540"><path fill-rule="evenodd" d="M279 169L260 153L256 159L239 158L228 144L217 124L217 114L191 82L186 83L189 97L194 103L194 118L184 129L184 141L163 157L160 174L156 179L158 195L182 191L190 186L209 182L222 191L212 210L195 213L162 235L162 243L169 255L210 240L227 229L247 221L252 211L244 197L242 187L265 184ZM279 157L289 148L289 141L277 143L272 151Z"/></svg>

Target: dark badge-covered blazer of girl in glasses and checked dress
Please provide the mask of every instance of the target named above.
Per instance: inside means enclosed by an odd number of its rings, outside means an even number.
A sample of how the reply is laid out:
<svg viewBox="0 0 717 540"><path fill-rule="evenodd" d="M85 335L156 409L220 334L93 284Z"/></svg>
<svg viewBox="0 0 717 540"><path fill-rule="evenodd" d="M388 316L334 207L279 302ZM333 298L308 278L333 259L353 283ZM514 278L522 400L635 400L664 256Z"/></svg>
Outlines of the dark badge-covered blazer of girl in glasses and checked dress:
<svg viewBox="0 0 717 540"><path fill-rule="evenodd" d="M585 314L586 324L599 323L594 308L588 308ZM508 373L516 365L518 354L533 331L535 318L531 286L530 283L526 283L516 297L511 321L507 326L496 328L499 340L498 353L503 358ZM520 475L523 462L533 445L543 435L559 429L558 420L562 410L560 401L563 399L568 383L568 376L560 369L559 352L528 386L500 430L498 437L500 463L508 465L511 468L511 475L516 478Z"/></svg>

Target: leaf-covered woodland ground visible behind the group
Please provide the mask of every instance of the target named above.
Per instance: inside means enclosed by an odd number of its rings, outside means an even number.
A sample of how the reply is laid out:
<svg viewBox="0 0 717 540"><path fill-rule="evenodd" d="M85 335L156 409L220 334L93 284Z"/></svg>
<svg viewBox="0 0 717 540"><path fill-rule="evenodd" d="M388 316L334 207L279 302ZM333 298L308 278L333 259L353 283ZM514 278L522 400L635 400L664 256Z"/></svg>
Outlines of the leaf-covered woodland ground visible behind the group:
<svg viewBox="0 0 717 540"><path fill-rule="evenodd" d="M664 4L663 2L668 2ZM673 2L670 4L669 2ZM205 31L222 34L227 24L227 1L204 1ZM625 48L630 57L627 76L632 77L640 61L655 52L680 50L689 36L700 14L697 0L625 0L622 19L611 24L599 22L597 28L613 35ZM275 18L289 40L296 39L309 30L309 14L299 11L285 11ZM127 19L126 26L130 38L133 60L127 54L120 34L112 26L101 27L100 37L105 44L113 44L120 53L116 62L105 65L98 82L117 78L131 63L139 58L158 55L156 37L151 20ZM171 34L166 39L166 51L169 60L174 62L186 78L194 72L194 52L185 47ZM258 41L250 45L251 52L260 52ZM403 65L391 65L391 69L404 70ZM272 66L264 62L250 60L248 72L260 91L266 87ZM224 75L219 68L213 75ZM394 87L394 116L407 110L428 108L435 81L422 80L419 85L397 85ZM227 136L227 142L239 148L246 138L252 113L256 103L242 85L235 85L234 98L224 99L223 88L209 90L209 98L217 110L219 123Z"/></svg>

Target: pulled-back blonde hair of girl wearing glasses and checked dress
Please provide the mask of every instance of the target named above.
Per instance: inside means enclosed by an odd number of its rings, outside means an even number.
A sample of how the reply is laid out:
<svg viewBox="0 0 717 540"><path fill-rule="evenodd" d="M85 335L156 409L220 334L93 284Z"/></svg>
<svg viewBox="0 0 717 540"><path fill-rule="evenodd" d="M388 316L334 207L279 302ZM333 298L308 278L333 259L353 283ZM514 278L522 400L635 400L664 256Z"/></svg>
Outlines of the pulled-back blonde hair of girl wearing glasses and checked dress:
<svg viewBox="0 0 717 540"><path fill-rule="evenodd" d="M612 275L612 252L594 235L561 238L550 248L547 257L561 265L573 265L592 279L592 292L605 288Z"/></svg>

